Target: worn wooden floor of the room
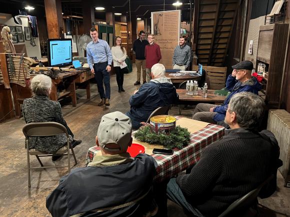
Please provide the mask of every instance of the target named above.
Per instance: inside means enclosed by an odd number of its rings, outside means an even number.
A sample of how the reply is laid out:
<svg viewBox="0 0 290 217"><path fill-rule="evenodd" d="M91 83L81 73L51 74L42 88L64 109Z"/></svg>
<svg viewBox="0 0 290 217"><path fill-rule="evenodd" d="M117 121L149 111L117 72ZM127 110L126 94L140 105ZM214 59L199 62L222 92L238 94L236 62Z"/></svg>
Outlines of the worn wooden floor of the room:
<svg viewBox="0 0 290 217"><path fill-rule="evenodd" d="M83 167L87 149L95 144L95 135L102 115L129 110L128 99L136 87L135 68L133 72L124 75L125 92L118 93L115 76L111 76L111 100L110 106L97 106L99 97L96 95L96 85L91 84L92 98L86 101L85 92L77 90L78 106L72 108L70 104L62 102L64 119L74 133L75 139L81 139L81 145L75 150L78 165ZM182 110L182 115L190 117L192 110ZM172 107L171 115L178 115L178 107ZM59 178L64 176L66 169L46 169L31 171L31 188L27 188L26 151L24 149L24 136L22 127L23 118L13 119L0 124L0 216L7 217L43 217L50 216L45 208L45 198L57 186ZM66 157L55 164L63 163ZM72 161L71 161L72 162ZM54 164L51 158L43 160L43 163ZM36 158L32 157L32 165L38 165ZM282 187L282 178L278 174L278 192L271 198L262 200L261 203L281 214L290 216L290 189ZM276 215L268 210L262 210L263 216L286 216ZM265 213L264 213L265 212ZM182 210L175 204L168 202L169 217L185 216Z"/></svg>

